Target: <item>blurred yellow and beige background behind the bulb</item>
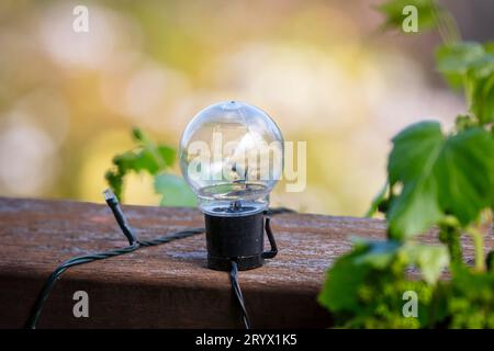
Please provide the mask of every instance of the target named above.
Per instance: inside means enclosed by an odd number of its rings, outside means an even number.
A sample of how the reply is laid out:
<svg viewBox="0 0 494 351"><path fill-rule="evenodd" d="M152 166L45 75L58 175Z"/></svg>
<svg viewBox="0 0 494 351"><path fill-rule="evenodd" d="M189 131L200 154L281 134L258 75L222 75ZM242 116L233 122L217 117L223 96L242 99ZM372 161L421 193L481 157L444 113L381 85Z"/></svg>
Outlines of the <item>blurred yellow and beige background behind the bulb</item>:
<svg viewBox="0 0 494 351"><path fill-rule="evenodd" d="M392 135L464 110L434 71L436 34L381 31L380 2L2 0L0 195L101 202L132 126L177 147L198 111L235 99L307 141L306 190L278 186L273 205L362 215ZM494 1L442 2L465 38L494 38ZM126 203L158 204L151 184L130 177Z"/></svg>

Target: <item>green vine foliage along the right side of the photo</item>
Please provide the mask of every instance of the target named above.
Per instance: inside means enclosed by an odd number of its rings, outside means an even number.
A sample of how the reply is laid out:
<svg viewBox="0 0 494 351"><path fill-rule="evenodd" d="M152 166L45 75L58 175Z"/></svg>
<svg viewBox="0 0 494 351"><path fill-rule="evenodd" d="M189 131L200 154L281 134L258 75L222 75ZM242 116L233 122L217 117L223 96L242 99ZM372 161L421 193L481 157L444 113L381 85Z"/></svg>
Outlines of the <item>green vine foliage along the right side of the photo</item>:
<svg viewBox="0 0 494 351"><path fill-rule="evenodd" d="M386 1L386 26L401 27L405 4L417 7L423 29L440 32L437 69L463 91L468 111L447 133L424 121L392 139L388 182L368 213L384 213L388 239L356 241L328 270L318 301L339 327L494 328L494 252L484 260L483 247L494 211L494 45L461 42L433 0ZM442 245L417 244L433 226ZM474 267L462 254L463 233ZM444 272L450 280L440 280ZM417 294L417 318L403 314L406 291Z"/></svg>

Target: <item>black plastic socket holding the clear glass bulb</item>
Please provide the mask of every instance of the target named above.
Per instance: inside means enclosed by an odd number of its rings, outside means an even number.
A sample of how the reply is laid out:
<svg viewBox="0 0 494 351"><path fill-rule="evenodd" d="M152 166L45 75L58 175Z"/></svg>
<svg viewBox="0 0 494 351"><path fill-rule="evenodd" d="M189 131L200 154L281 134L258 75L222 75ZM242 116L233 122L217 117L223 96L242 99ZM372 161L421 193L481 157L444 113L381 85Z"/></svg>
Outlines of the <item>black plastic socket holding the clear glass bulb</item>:
<svg viewBox="0 0 494 351"><path fill-rule="evenodd" d="M238 270L247 271L262 267L265 259L278 253L267 212L246 216L214 216L204 214L207 246L207 268L229 271L232 261ZM265 231L271 245L265 251Z"/></svg>

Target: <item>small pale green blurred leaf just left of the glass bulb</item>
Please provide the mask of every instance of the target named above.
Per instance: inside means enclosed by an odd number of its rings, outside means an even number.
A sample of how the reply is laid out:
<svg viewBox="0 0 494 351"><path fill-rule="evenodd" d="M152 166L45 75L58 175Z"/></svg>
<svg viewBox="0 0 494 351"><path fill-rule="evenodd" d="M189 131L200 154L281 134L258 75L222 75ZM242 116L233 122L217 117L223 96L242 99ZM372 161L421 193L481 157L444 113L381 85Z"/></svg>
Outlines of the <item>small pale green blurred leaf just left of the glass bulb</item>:
<svg viewBox="0 0 494 351"><path fill-rule="evenodd" d="M180 177L167 173L156 176L155 191L164 195L161 206L192 207L197 205L195 194Z"/></svg>

